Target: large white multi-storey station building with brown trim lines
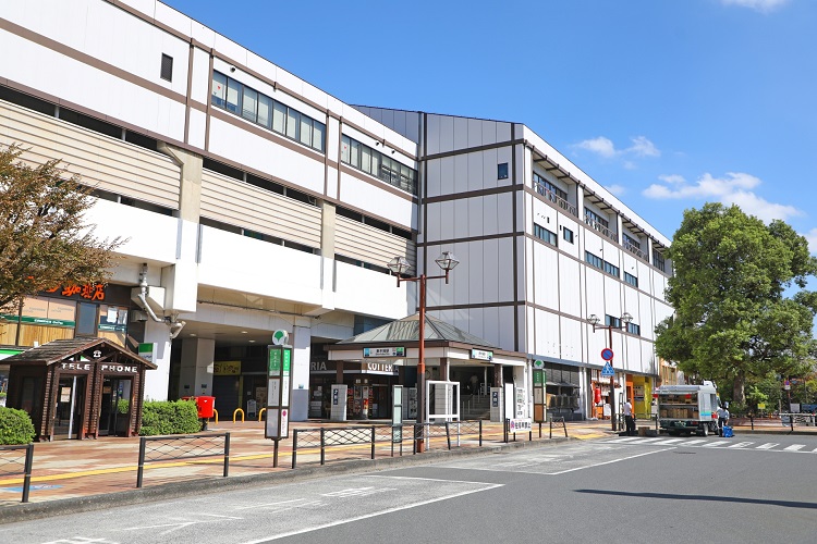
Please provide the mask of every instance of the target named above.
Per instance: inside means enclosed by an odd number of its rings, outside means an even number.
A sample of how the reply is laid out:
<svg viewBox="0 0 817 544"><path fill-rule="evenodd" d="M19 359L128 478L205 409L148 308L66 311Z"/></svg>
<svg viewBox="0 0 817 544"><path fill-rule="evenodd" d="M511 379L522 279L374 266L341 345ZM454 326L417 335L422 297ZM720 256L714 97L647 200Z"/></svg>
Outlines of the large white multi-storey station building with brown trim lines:
<svg viewBox="0 0 817 544"><path fill-rule="evenodd" d="M541 361L550 408L600 417L611 347L613 401L649 409L669 240L526 125L350 106L156 0L7 2L0 47L0 144L63 160L94 188L96 235L125 240L108 284L7 313L0 353L105 337L156 364L146 398L212 395L224 417L263 406L282 330L293 420L325 417L339 380L382 406L416 360L338 367L326 347L417 311L392 258L432 275L453 251L428 314L527 363L442 378L529 392ZM612 346L592 314L622 326Z"/></svg>

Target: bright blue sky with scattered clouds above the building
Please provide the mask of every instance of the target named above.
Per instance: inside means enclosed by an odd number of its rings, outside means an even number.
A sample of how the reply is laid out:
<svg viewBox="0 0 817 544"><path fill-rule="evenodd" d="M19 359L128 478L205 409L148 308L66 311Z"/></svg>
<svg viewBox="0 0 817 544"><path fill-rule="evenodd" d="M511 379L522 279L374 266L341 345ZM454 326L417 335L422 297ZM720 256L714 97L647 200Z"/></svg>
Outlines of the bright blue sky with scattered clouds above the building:
<svg viewBox="0 0 817 544"><path fill-rule="evenodd" d="M720 201L817 252L817 1L166 3L344 102L524 123L670 238Z"/></svg>

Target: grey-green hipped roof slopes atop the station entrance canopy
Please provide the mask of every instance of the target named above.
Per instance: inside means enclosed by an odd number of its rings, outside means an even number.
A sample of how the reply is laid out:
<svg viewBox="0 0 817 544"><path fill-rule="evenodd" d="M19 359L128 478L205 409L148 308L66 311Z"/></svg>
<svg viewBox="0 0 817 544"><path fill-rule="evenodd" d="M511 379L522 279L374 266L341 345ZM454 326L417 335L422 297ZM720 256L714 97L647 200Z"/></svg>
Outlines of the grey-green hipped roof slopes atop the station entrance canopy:
<svg viewBox="0 0 817 544"><path fill-rule="evenodd" d="M472 346L487 347L489 349L499 349L492 346L488 341L466 333L450 323L446 323L437 318L426 314L425 339L456 342L460 344L470 344ZM400 342L418 342L419 341L419 313L408 316L387 323L371 331L352 336L338 344L375 344L375 343L400 343Z"/></svg>

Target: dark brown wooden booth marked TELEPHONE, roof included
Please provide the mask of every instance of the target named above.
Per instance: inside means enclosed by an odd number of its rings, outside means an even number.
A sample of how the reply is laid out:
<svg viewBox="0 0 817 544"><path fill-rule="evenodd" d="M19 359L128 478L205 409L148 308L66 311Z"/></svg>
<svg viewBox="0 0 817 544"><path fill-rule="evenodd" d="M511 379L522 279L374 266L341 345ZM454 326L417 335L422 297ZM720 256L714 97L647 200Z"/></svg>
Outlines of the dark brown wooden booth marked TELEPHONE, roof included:
<svg viewBox="0 0 817 544"><path fill-rule="evenodd" d="M38 441L138 434L145 371L156 369L89 337L49 342L3 363L10 366L7 405L28 412Z"/></svg>

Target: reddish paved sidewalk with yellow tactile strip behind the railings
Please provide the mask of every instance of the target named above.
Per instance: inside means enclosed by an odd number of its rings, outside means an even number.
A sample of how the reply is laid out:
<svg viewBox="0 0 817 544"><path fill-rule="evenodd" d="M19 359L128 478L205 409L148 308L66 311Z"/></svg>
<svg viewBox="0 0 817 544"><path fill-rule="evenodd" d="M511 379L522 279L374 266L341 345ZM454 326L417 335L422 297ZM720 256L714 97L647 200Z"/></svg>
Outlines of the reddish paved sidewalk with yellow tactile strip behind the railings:
<svg viewBox="0 0 817 544"><path fill-rule="evenodd" d="M641 423L641 422L639 422ZM370 459L370 444L332 446L326 450L326 465L320 466L320 450L315 444L298 446L297 468L292 469L292 441L295 429L382 425L383 421L328 423L306 421L291 423L290 437L280 442L278 467L273 468L273 443L264 437L264 423L232 421L212 423L203 434L230 433L229 477L223 478L223 456L187 460L156 461L145 465L143 489L136 489L138 437L100 437L85 441L35 443L29 503L21 503L23 478L4 475L0 470L0 523L23 518L78 509L98 509L120 504L149 500L157 496L178 496L184 493L205 493L207 490L245 485L253 481L292 481L295 478L319 478L343 471L371 470L393 465L427 462L432 458L452 455L478 455L497 448L527 447L563 442L564 430L553 426L553 438L548 438L549 425L534 424L533 443L527 433L516 435L516 441L502 443L502 425L484 422L483 447L477 436L461 441L461 447L447 449L444 437L429 441L429 452L413 455L412 442L399 445L391 453L391 444L378 442L375 460ZM639 424L638 426L644 426ZM566 423L569 440L594 440L610 436L610 421L581 421ZM650 426L655 429L655 423ZM789 433L788 426L761 425L756 422L756 433ZM410 431L408 431L410 432ZM735 433L753 432L748 426L735 426ZM795 433L817 435L817 428L795 428ZM302 443L303 444L303 443ZM220 453L220 452L219 452ZM5 468L5 467L3 467ZM51 510L48 505L53 505Z"/></svg>

